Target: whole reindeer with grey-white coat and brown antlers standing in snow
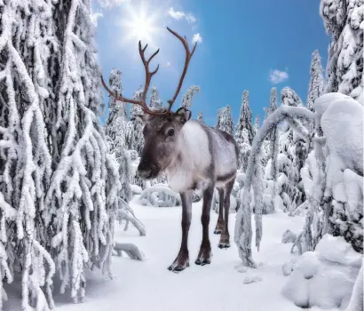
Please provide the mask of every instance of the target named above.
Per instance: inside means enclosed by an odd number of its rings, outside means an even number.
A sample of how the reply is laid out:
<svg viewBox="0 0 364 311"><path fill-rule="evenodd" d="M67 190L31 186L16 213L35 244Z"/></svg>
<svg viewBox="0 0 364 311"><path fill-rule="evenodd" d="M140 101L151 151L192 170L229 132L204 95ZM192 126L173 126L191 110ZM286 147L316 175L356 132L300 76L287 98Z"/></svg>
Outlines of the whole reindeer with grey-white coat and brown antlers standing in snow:
<svg viewBox="0 0 364 311"><path fill-rule="evenodd" d="M169 108L152 111L146 106L146 93L150 81L159 68L158 65L153 72L149 71L149 63L159 49L146 60L147 44L144 48L141 48L140 42L138 44L140 58L146 71L146 83L141 100L129 100L120 94L114 94L108 89L102 76L101 81L110 96L115 97L115 100L139 105L144 112L144 115L138 116L145 124L143 129L145 145L138 164L138 175L143 179L154 179L164 171L170 188L181 195L182 241L177 258L168 267L170 271L179 272L189 267L187 241L194 189L203 191L202 243L194 263L204 266L211 262L209 224L215 187L218 188L219 213L214 233L220 234L219 248L230 247L228 217L230 194L238 168L238 148L235 140L228 133L191 120L190 110L186 108L179 108L176 112L170 110L182 87L197 43L190 51L186 36L179 36L170 28L167 29L181 41L186 50L185 67L172 100L168 100Z"/></svg>

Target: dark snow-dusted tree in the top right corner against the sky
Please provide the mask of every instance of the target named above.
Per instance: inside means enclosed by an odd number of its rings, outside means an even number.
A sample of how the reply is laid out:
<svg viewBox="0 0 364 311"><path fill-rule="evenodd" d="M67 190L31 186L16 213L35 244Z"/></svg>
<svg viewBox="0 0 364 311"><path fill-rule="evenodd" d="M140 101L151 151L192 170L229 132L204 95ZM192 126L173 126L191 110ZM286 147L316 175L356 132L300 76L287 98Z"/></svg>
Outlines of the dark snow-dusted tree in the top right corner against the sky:
<svg viewBox="0 0 364 311"><path fill-rule="evenodd" d="M342 92L363 104L362 0L321 0L320 15L332 40L325 92Z"/></svg>

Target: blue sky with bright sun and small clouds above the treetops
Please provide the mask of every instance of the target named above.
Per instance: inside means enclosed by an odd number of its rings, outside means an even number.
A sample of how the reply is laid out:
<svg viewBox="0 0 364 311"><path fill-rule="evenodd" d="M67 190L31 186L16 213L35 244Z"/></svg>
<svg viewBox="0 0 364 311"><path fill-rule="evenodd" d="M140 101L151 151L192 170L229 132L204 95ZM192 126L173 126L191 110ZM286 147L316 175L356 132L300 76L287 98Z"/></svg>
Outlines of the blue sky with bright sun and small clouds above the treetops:
<svg viewBox="0 0 364 311"><path fill-rule="evenodd" d="M138 38L149 44L149 52L161 49L151 67L160 64L152 84L164 102L175 92L185 57L182 44L165 27L187 36L190 46L193 38L199 40L174 109L188 86L199 85L191 110L193 117L202 110L210 125L226 105L236 122L243 90L249 91L253 118L259 114L261 121L273 86L279 93L289 86L305 102L313 50L320 50L326 67L329 37L320 1L91 0L91 5L99 65L106 78L112 68L122 71L126 97L145 79Z"/></svg>

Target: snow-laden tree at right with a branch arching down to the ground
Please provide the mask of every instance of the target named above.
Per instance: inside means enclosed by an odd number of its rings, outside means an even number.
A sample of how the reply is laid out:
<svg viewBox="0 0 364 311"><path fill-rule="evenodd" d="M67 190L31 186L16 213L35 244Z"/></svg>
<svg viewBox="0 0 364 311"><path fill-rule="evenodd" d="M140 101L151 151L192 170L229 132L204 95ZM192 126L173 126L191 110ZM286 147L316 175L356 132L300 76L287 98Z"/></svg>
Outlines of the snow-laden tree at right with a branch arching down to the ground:
<svg viewBox="0 0 364 311"><path fill-rule="evenodd" d="M352 187L362 184L363 175L363 147L362 147L362 107L360 103L341 93L328 93L315 100L315 112L306 108L282 106L269 116L253 140L253 147L249 157L247 177L242 191L242 208L238 211L235 223L234 241L238 246L239 254L244 265L255 267L251 257L251 214L250 214L250 187L259 182L259 150L265 137L282 121L289 122L290 126L306 141L313 140L313 156L318 168L313 180L304 180L305 193L308 196L305 227L300 236L305 237L305 250L313 251L322 235L331 233L350 236L352 246L362 245L362 195L345 198L340 187ZM355 122L351 122L356 116ZM300 120L315 124L315 133L307 131ZM342 131L345 129L345 132ZM315 137L313 137L315 134ZM347 136L345 136L347 135ZM348 139L350 137L350 139ZM311 156L312 157L312 156ZM310 159L311 161L311 159ZM344 173L343 173L344 171ZM302 172L301 172L302 174ZM305 174L303 174L305 179ZM344 186L343 186L344 183ZM352 186L351 186L352 185ZM259 188L259 187L257 187ZM257 197L256 188L254 195ZM352 194L350 194L352 195ZM346 200L346 201L345 201ZM259 246L262 237L261 217L257 214L259 200L256 199L256 244ZM335 219L330 216L333 209L342 210L352 222L351 227L335 228ZM323 215L319 224L313 224L314 214ZM339 221L338 221L339 223ZM298 241L299 242L299 241Z"/></svg>

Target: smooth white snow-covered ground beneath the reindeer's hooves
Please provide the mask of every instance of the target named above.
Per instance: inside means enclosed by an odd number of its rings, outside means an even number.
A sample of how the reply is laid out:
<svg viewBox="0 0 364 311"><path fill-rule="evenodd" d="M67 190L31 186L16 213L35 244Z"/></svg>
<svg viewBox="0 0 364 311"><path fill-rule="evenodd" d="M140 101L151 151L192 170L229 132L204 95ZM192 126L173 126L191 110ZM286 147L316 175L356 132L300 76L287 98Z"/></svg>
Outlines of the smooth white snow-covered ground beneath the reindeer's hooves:
<svg viewBox="0 0 364 311"><path fill-rule="evenodd" d="M135 201L135 198L134 200ZM168 271L178 253L180 243L181 208L154 208L131 202L138 219L146 226L146 236L130 226L127 232L116 227L117 242L135 243L145 253L144 261L114 257L114 279L96 271L88 275L86 299L74 304L66 295L56 295L56 309L64 311L97 310L300 310L281 291L288 277L282 273L284 262L296 255L289 253L291 244L281 243L284 231L298 232L304 218L289 217L276 211L263 217L263 241L253 258L261 265L257 269L239 268L241 260L233 243L235 214L230 214L232 247L218 249L218 235L213 230L218 215L211 211L210 241L213 252L208 266L194 265L202 238L201 203L194 203L189 235L190 267L179 274ZM254 223L254 222L253 222ZM249 283L249 281L256 281ZM4 310L20 310L20 287L12 287L12 303ZM14 302L13 298L19 298Z"/></svg>

